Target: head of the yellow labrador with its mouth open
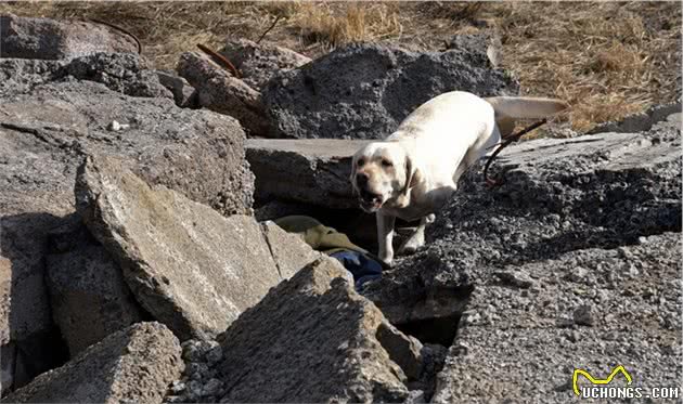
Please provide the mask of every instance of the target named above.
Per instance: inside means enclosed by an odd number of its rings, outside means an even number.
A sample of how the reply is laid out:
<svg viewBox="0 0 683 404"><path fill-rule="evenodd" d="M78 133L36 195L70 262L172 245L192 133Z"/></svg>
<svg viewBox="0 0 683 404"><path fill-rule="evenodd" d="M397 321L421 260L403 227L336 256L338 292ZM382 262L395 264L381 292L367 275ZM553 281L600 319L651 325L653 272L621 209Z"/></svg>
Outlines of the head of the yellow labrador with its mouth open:
<svg viewBox="0 0 683 404"><path fill-rule="evenodd" d="M350 180L360 207L374 212L387 203L407 206L408 193L420 183L421 173L401 144L374 142L353 155Z"/></svg>

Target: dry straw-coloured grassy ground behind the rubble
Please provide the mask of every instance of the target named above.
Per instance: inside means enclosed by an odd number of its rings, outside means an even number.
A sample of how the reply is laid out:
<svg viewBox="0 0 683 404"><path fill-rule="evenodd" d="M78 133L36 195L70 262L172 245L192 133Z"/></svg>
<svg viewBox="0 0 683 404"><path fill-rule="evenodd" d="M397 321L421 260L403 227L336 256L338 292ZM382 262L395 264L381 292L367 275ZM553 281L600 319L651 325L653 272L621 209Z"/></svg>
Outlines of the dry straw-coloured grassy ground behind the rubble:
<svg viewBox="0 0 683 404"><path fill-rule="evenodd" d="M158 68L197 43L244 37L318 56L355 41L443 49L455 34L494 34L523 93L571 104L584 131L681 96L680 2L26 2L0 13L99 18L133 32Z"/></svg>

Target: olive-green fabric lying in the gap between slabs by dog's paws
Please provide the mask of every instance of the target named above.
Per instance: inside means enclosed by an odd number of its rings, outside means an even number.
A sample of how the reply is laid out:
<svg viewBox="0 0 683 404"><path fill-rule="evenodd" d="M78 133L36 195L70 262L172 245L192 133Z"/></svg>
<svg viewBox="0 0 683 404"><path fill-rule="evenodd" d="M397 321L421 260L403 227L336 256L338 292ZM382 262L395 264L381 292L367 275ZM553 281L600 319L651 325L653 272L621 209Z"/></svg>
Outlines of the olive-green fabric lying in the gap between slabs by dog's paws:
<svg viewBox="0 0 683 404"><path fill-rule="evenodd" d="M286 216L275 219L273 222L287 233L298 234L314 250L323 251L327 255L342 250L368 253L366 250L351 243L346 234L327 227L311 217Z"/></svg>

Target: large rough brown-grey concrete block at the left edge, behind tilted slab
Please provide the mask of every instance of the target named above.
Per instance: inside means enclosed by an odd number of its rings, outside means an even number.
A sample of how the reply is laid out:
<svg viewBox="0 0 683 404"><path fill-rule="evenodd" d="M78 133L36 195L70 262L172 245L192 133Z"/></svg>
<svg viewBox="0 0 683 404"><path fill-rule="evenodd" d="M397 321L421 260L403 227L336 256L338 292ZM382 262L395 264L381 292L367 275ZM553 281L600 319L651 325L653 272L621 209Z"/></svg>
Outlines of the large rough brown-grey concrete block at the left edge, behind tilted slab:
<svg viewBox="0 0 683 404"><path fill-rule="evenodd" d="M0 115L8 117L0 121L9 161L4 181L18 200L40 190L38 178L41 183L50 179L60 194L69 193L82 155L103 153L130 161L151 183L166 184L227 214L250 211L253 174L244 160L245 135L230 117L181 109L166 99L125 96L89 81L39 86L3 102ZM114 120L128 128L108 130ZM64 205L73 206L72 199L67 195Z"/></svg>

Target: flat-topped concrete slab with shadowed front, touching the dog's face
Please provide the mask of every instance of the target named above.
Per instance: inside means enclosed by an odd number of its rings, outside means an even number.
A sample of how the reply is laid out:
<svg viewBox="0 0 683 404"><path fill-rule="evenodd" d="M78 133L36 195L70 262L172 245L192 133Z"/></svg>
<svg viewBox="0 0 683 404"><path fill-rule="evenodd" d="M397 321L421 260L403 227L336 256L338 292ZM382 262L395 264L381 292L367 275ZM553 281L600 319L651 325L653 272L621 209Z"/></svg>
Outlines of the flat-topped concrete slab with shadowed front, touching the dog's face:
<svg viewBox="0 0 683 404"><path fill-rule="evenodd" d="M365 143L335 139L247 140L246 158L256 175L256 198L358 209L349 181L351 157Z"/></svg>

